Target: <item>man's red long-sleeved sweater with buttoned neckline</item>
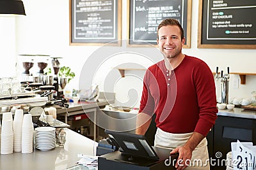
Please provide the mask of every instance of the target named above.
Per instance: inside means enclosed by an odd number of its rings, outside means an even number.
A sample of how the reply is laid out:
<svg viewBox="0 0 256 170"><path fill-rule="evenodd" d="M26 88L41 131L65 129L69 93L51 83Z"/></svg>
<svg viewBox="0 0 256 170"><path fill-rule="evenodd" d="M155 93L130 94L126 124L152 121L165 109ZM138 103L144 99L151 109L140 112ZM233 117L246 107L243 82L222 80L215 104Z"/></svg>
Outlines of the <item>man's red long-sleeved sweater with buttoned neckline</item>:
<svg viewBox="0 0 256 170"><path fill-rule="evenodd" d="M195 131L207 136L218 113L211 69L188 55L171 74L164 60L150 66L143 82L141 112L156 113L156 125L165 132Z"/></svg>

